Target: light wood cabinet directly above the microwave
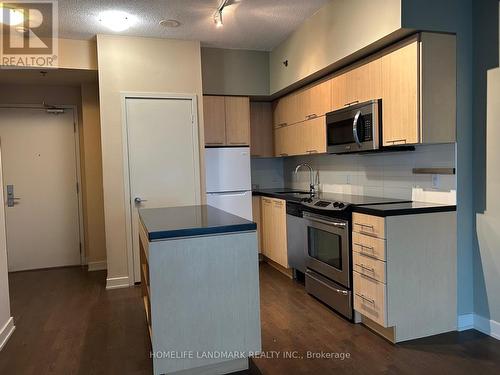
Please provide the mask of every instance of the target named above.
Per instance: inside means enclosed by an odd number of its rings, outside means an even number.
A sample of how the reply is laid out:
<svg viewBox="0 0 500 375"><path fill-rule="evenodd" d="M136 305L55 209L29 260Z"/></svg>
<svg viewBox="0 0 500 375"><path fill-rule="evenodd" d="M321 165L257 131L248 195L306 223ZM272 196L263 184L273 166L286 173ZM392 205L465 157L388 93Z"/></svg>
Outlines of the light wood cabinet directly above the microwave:
<svg viewBox="0 0 500 375"><path fill-rule="evenodd" d="M380 99L381 73L381 61L377 58L332 78L332 108L336 110L350 104Z"/></svg>

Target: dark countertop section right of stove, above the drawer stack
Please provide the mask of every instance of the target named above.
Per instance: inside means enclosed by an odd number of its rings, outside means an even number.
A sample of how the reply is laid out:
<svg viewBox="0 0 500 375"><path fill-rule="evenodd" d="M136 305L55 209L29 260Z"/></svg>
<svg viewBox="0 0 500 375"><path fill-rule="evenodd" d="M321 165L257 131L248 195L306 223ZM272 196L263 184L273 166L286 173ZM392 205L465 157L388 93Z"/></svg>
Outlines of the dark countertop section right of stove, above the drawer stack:
<svg viewBox="0 0 500 375"><path fill-rule="evenodd" d="M373 216L401 216L456 211L457 206L439 203L407 202L356 206L354 212Z"/></svg>

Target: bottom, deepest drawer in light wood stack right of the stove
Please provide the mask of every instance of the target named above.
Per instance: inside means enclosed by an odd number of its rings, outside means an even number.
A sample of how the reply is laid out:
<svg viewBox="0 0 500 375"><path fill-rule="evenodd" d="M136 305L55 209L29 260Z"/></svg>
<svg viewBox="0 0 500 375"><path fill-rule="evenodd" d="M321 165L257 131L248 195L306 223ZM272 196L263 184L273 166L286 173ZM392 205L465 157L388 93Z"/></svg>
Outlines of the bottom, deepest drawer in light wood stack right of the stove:
<svg viewBox="0 0 500 375"><path fill-rule="evenodd" d="M386 288L369 277L354 271L354 310L387 327Z"/></svg>

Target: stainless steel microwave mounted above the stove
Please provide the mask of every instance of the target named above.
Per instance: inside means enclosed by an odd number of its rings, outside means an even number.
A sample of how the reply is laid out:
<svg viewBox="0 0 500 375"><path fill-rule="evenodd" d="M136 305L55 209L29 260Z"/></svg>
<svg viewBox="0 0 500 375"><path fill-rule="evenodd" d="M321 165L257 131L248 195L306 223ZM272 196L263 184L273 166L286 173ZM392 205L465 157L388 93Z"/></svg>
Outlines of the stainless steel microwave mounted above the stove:
<svg viewBox="0 0 500 375"><path fill-rule="evenodd" d="M378 150L382 100L354 104L326 114L327 151L331 154Z"/></svg>

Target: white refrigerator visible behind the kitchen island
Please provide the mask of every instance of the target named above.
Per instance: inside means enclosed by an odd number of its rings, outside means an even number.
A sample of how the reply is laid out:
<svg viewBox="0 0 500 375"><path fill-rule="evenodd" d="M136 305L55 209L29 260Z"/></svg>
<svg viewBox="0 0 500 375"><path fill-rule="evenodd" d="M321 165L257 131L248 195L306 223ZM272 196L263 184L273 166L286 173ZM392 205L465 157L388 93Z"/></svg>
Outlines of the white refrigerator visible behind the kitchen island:
<svg viewBox="0 0 500 375"><path fill-rule="evenodd" d="M205 149L207 204L252 220L249 147Z"/></svg>

